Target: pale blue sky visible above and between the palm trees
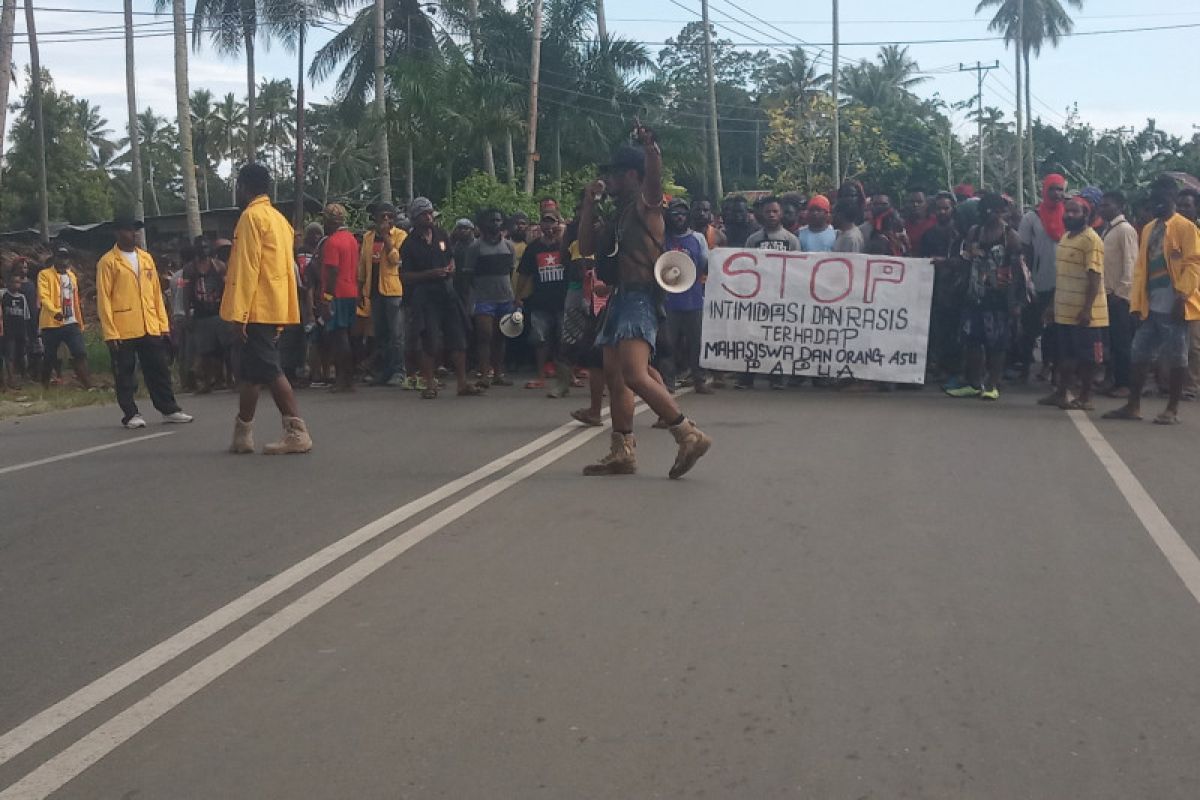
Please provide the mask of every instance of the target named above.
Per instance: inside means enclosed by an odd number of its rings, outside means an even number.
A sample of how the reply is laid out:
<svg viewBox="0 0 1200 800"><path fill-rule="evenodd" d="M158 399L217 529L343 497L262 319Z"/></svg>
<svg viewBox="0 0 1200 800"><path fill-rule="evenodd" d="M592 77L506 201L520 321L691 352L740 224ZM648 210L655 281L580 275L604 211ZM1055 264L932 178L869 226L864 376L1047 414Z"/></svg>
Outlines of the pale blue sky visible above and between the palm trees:
<svg viewBox="0 0 1200 800"><path fill-rule="evenodd" d="M194 0L188 0L188 7ZM1012 50L1001 41L931 42L994 36L986 29L988 16L974 14L976 0L840 0L841 60L874 58L887 42L913 42L910 54L928 78L917 88L923 96L938 95L958 102L976 94L974 72L960 72L962 64L1000 62L988 72L984 102L997 106L1012 119L1014 65ZM1082 11L1073 11L1078 34L1064 38L1057 49L1044 49L1033 64L1034 115L1061 125L1068 109L1078 103L1079 115L1097 128L1133 126L1141 128L1153 118L1160 128L1190 138L1196 120L1194 102L1181 104L1178 85L1193 85L1190 70L1175 73L1177 56L1190 64L1200 35L1200 2L1190 0L1084 0ZM125 126L125 50L120 38L121 0L35 0L42 65L55 84L77 97L100 104L114 131ZM162 115L174 115L174 72L169 16L155 16L154 0L134 0L139 38L136 42L137 91L140 109L152 107ZM710 0L710 14L721 38L746 49L784 53L797 44L812 44L818 62L828 68L832 41L830 0L799 2L785 0ZM1138 12L1133 8L1136 7ZM1181 8L1183 8L1181 11ZM678 34L688 22L700 18L700 0L665 0L647 6L638 0L605 0L610 35L646 42L652 54ZM336 23L335 23L336 25ZM1157 30L1132 31L1153 28ZM101 29L88 34L67 34ZM24 14L17 14L13 48L19 70L29 62L24 36ZM330 36L317 31L311 41L316 50ZM90 38L94 41L80 41ZM108 40L108 41L104 41ZM1151 58L1153 55L1154 58ZM1164 59L1165 71L1164 78ZM190 53L191 88L205 88L217 97L228 91L245 95L245 67L238 56L221 56L204 46ZM259 78L295 80L295 56L278 44L257 54ZM14 88L16 89L16 88ZM310 98L332 92L332 80L308 88ZM1194 91L1187 95L1196 100ZM16 91L13 92L16 98ZM968 122L959 115L959 133L967 136Z"/></svg>

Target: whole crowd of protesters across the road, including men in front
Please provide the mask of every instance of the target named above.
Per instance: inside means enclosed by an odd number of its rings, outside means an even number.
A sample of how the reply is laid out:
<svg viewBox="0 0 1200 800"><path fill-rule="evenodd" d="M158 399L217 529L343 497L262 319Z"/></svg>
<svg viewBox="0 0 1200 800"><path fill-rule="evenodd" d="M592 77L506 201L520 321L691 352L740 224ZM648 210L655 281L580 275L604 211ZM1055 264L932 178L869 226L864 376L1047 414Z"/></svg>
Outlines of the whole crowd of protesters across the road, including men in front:
<svg viewBox="0 0 1200 800"><path fill-rule="evenodd" d="M1135 213L1121 192L1070 192L1056 174L1030 210L968 185L931 197L910 191L896 206L889 194L846 181L833 196L734 194L718 211L707 199L664 197L653 133L637 136L570 215L546 198L536 221L486 207L444 227L418 197L403 209L371 206L367 230L350 230L347 210L331 204L319 222L293 233L266 200L270 176L252 164L239 179L245 204L233 241L197 239L161 282L137 246L140 222L119 221L116 243L97 265L97 311L122 423L145 425L133 402L137 365L163 419L191 419L175 401L170 359L185 391L242 386L239 432L257 401L247 381L270 387L286 434L296 434L281 452L311 447L293 386L353 392L368 384L436 399L452 375L457 396L478 397L512 385L509 373L532 361L528 390L562 398L588 389L589 404L571 413L583 425L601 425L606 391L613 398L613 447L589 474L636 468L632 393L647 399L658 427L672 429L680 452L694 445L677 463L686 471L710 440L671 395L680 386L754 387L754 374L708 374L701 366L704 278L716 247L930 259L926 384L950 397L996 401L1002 384L1032 379L1054 386L1042 404L1086 410L1099 391L1126 401L1105 416L1140 419L1153 378L1168 396L1154 419L1164 425L1195 397L1198 194L1169 176L1154 181ZM695 265L698 277L683 291L655 285L653 264L665 251ZM266 263L276 270L270 279L260 271ZM59 247L42 269L22 263L5 276L4 384L49 385L65 347L79 384L91 386L71 264ZM769 380L773 389L799 383ZM233 449L244 452L252 444L241 433Z"/></svg>

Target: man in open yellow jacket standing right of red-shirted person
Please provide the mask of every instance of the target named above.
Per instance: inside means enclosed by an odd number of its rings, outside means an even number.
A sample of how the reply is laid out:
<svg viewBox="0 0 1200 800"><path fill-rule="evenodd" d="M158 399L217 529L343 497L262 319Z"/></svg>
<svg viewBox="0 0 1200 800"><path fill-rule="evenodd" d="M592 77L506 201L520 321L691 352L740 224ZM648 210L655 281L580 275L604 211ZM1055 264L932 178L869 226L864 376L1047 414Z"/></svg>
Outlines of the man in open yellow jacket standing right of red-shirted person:
<svg viewBox="0 0 1200 800"><path fill-rule="evenodd" d="M376 335L376 386L404 383L404 287L400 282L400 246L408 235L394 227L396 209L380 205L376 227L362 235L359 254L359 296L370 300Z"/></svg>

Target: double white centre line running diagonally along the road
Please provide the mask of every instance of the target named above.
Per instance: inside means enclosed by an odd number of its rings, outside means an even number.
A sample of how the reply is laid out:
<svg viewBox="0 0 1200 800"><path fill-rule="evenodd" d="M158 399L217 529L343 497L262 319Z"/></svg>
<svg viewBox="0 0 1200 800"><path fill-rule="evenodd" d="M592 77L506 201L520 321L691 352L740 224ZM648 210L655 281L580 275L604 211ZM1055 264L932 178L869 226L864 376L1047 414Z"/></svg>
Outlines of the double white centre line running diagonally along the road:
<svg viewBox="0 0 1200 800"><path fill-rule="evenodd" d="M640 414L644 410L644 407L638 407L635 409L635 413ZM0 800L44 798L58 790L163 714L199 692L215 679L236 667L247 657L270 644L275 638L301 622L310 614L330 603L413 546L428 539L438 530L469 513L500 492L545 469L604 431L605 428L584 428L581 431L574 422L559 426L523 447L497 458L490 464L480 467L475 471L463 475L359 528L348 536L310 555L295 566L247 591L204 619L193 622L179 633L160 642L139 656L125 662L102 678L26 720L12 730L0 735L0 765L2 765L101 703L110 699L116 693L128 688L138 680L167 664L176 656L194 648L233 622L242 619L256 608L329 566L347 553L391 530L415 515L454 497L467 487L491 477L514 464L524 462L526 458L544 447L575 432L574 435L570 435L565 441L558 444L558 446L547 450L533 461L523 463L511 473L479 487L428 519L364 555L316 589L288 603L216 652L163 684L144 699L112 717L108 722L104 722L58 756L44 762L17 783L0 792Z"/></svg>

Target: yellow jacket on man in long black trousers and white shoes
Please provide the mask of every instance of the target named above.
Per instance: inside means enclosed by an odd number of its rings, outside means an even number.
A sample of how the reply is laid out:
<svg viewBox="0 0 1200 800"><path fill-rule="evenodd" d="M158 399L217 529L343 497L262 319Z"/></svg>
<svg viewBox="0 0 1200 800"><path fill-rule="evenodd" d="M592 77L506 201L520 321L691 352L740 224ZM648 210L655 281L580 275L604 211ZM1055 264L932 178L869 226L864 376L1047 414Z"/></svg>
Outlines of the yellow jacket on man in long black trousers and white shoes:
<svg viewBox="0 0 1200 800"><path fill-rule="evenodd" d="M140 247L136 252L137 275L115 245L96 263L96 311L106 342L170 333L154 257Z"/></svg>

